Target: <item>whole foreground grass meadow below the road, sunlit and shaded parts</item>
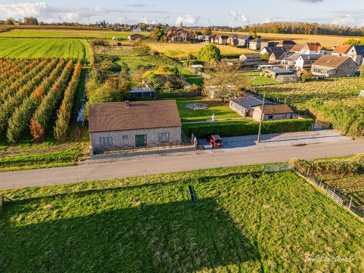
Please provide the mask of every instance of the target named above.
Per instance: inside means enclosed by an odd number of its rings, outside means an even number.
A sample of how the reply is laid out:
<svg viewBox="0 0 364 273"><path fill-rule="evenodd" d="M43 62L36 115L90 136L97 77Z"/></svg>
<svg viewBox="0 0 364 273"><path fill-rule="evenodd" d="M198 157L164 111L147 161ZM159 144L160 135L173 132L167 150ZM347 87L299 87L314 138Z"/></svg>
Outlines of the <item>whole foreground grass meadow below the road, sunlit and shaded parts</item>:
<svg viewBox="0 0 364 273"><path fill-rule="evenodd" d="M252 169L252 167L249 167ZM261 169L261 166L255 166ZM363 272L364 225L292 172L245 167L3 191L9 272ZM191 174L191 181L188 175ZM207 175L207 177L206 177ZM223 175L223 176L222 176ZM199 178L204 177L204 178ZM147 177L168 181L167 175ZM129 185L143 181L128 178ZM196 202L191 203L188 185ZM62 190L81 194L59 194ZM58 192L53 197L53 190ZM97 190L96 190L97 189ZM28 191L32 201L27 201ZM37 197L45 196L48 197ZM352 262L305 258L353 257Z"/></svg>

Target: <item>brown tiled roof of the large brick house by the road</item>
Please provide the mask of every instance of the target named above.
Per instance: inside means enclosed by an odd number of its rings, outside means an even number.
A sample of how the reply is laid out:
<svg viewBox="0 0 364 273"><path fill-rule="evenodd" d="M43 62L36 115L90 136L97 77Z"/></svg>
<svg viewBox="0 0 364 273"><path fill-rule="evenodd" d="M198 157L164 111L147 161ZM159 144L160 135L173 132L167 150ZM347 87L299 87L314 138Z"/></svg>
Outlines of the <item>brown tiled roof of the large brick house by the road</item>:
<svg viewBox="0 0 364 273"><path fill-rule="evenodd" d="M90 103L89 132L181 126L175 100Z"/></svg>

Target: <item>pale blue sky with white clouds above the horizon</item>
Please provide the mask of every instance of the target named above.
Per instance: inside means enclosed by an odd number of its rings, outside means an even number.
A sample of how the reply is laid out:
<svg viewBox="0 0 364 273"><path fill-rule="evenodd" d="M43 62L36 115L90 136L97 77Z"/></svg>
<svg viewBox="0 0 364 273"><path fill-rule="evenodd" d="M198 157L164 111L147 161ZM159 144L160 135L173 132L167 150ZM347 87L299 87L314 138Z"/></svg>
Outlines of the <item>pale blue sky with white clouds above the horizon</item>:
<svg viewBox="0 0 364 273"><path fill-rule="evenodd" d="M348 2L350 5L348 5ZM48 1L19 1L0 0L0 18L25 16L36 17L39 21L48 23L59 21L78 21L91 23L105 20L109 23L121 22L121 15L127 17L127 23L143 21L146 23L162 23L169 16L170 25L207 26L264 23L274 21L308 21L317 23L333 23L341 25L364 26L363 0L274 0L269 1L99 1L99 0L48 0ZM168 19L167 19L168 20ZM125 22L125 21L124 21Z"/></svg>

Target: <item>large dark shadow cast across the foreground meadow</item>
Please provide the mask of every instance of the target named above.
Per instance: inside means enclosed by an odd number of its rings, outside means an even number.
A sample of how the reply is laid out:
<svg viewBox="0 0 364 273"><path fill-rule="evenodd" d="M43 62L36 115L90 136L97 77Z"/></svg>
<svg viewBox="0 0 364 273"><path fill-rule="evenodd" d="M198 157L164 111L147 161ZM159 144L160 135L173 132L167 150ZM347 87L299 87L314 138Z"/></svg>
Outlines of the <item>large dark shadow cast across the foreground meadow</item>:
<svg viewBox="0 0 364 273"><path fill-rule="evenodd" d="M23 225L12 223L21 217L15 214L32 208L8 206L0 220L1 268L19 272L192 272L241 263L259 268L258 250L212 198L196 203L136 202L132 207L101 212L94 206L92 215ZM51 204L43 209L48 214L57 210ZM82 211L82 205L77 209Z"/></svg>

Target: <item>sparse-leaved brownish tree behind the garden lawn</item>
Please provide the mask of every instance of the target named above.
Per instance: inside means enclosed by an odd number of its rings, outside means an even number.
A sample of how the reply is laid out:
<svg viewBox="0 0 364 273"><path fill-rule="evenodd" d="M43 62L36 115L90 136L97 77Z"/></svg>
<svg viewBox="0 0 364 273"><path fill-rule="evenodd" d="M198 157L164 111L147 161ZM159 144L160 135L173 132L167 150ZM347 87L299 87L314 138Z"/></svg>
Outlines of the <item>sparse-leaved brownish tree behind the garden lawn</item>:
<svg viewBox="0 0 364 273"><path fill-rule="evenodd" d="M220 98L222 102L226 99L244 96L250 89L251 81L239 70L236 65L229 65L225 61L215 64L207 64L206 74L210 77L205 79L203 94L209 96L213 92L214 97Z"/></svg>

